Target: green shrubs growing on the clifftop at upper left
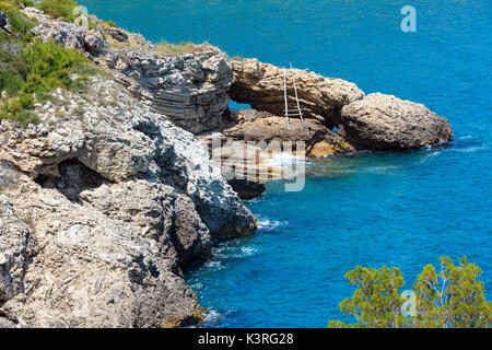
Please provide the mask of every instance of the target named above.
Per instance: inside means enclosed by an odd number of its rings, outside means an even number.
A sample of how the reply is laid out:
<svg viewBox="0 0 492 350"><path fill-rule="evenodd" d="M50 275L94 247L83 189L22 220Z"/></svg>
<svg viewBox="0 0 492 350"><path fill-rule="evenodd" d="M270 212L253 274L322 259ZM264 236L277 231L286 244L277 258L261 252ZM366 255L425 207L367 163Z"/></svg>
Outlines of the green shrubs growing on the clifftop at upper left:
<svg viewBox="0 0 492 350"><path fill-rule="evenodd" d="M32 4L28 2L0 2L0 10L7 10L12 32L0 32L0 118L21 125L39 122L33 108L36 101L49 98L47 92L57 88L83 91L87 77L96 72L81 52L32 37L35 23L19 10L21 5ZM70 20L69 8L73 12L74 5L71 0L45 0L39 8Z"/></svg>

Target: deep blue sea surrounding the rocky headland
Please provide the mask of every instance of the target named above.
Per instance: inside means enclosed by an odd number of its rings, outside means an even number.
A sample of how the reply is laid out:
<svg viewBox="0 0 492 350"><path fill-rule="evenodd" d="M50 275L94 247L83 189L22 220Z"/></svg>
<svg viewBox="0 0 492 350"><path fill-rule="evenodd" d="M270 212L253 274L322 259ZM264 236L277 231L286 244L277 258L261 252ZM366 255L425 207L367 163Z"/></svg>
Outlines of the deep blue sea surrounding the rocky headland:
<svg viewBox="0 0 492 350"><path fill-rule="evenodd" d="M467 255L492 295L492 1L82 0L159 42L209 42L230 56L292 62L427 105L446 148L309 163L301 192L270 184L247 205L255 236L219 244L187 273L211 327L326 327L350 320L355 265L399 267L407 285L440 256ZM400 10L417 9L417 33Z"/></svg>

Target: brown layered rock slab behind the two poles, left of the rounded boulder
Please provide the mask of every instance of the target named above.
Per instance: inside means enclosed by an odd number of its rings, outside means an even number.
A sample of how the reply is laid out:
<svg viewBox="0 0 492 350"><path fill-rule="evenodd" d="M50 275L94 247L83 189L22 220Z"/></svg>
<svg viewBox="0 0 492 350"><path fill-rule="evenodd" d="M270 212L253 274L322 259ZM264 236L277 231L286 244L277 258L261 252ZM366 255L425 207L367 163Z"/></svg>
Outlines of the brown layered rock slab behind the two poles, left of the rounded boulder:
<svg viewBox="0 0 492 350"><path fill-rule="evenodd" d="M261 79L283 75L283 69L257 59L232 59L234 83L231 98L238 103L248 103L258 110L274 115L284 114L283 79ZM364 93L353 83L341 79L324 78L313 72L290 69L289 79L295 78L301 108L307 118L316 118L332 129L339 124L340 109ZM288 83L289 106L295 106L292 80Z"/></svg>

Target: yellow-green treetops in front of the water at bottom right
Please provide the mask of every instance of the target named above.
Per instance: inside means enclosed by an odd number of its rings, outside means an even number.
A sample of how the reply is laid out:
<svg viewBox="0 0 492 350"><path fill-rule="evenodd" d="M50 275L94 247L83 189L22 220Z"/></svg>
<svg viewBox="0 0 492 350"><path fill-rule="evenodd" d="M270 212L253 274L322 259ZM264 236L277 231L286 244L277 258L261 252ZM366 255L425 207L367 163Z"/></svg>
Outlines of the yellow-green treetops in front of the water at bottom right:
<svg viewBox="0 0 492 350"><path fill-rule="evenodd" d="M441 270L424 267L413 289L405 291L399 269L378 270L358 266L345 278L358 290L340 310L355 318L355 324L331 320L330 328L490 328L492 304L485 300L482 273L464 257L458 266L440 258Z"/></svg>

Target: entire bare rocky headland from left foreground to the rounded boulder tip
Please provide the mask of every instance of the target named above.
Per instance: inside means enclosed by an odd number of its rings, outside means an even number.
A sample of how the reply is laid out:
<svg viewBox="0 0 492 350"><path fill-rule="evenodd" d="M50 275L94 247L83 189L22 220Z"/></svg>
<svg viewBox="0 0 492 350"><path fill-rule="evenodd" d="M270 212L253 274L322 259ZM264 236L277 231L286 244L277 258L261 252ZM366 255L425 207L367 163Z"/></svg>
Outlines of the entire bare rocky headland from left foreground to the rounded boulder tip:
<svg viewBox="0 0 492 350"><path fill-rule="evenodd" d="M107 74L91 78L85 95L58 90L37 104L39 125L1 120L0 327L202 322L181 268L206 260L214 238L253 234L256 218L239 196L263 188L227 183L226 159L210 158L213 137L221 145L303 141L306 155L319 158L453 137L421 104L296 69L309 131L298 119L288 129L283 85L265 80L279 67L208 45L162 55L141 35L24 12L37 19L39 39L81 50ZM231 98L254 109L231 112Z"/></svg>

